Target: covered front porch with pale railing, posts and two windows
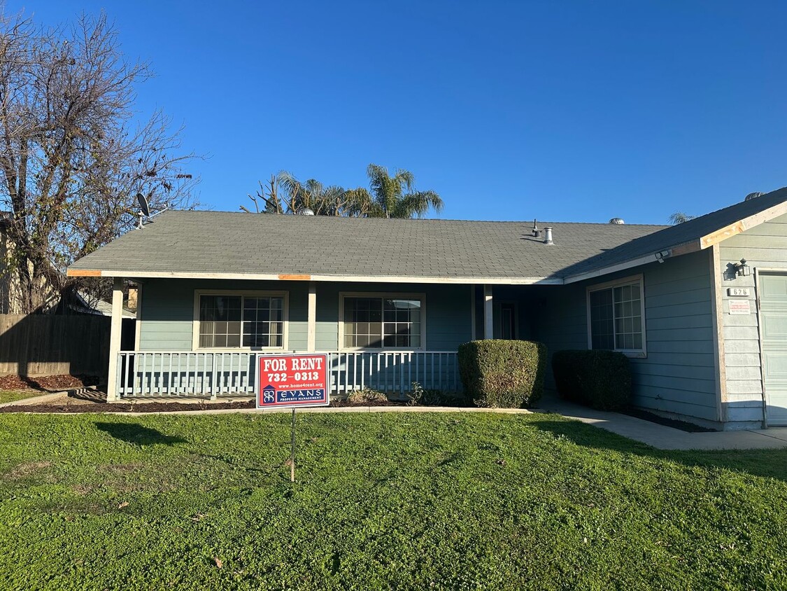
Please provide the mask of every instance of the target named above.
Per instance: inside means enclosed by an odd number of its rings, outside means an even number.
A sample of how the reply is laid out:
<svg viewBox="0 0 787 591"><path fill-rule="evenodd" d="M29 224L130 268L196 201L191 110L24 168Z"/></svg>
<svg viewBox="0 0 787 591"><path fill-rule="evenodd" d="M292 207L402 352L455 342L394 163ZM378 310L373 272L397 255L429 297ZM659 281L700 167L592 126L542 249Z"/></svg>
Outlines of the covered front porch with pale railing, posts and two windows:
<svg viewBox="0 0 787 591"><path fill-rule="evenodd" d="M529 307L524 302L528 289L534 286L180 279L137 283L139 321L133 351L120 350L120 314L113 314L109 401L253 396L257 391L257 355L292 352L327 355L331 396L372 388L392 399L403 399L416 382L425 389L458 393L462 390L456 352L460 344L478 338L531 336L526 314ZM122 304L123 287L124 280L117 278L113 311ZM242 326L246 326L243 319L251 307L247 300L254 298L255 305L269 296L281 300L281 304L266 303L270 309L264 310L271 338L265 344L279 348L229 348L225 340L219 347L205 346L205 335L210 336L205 329L205 318L210 314L206 305L216 302L209 298L227 294L245 298L241 305L246 308L239 317ZM380 324L375 324L373 314L368 318L364 306L377 299L382 299L383 305L407 303L402 306L404 311L381 313L380 319L386 321L383 326L389 319L397 321L393 336L381 329L385 344L394 345L390 348L364 347L375 325ZM280 328L271 328L274 325ZM224 323L220 330L224 339ZM243 330L242 339L247 336Z"/></svg>

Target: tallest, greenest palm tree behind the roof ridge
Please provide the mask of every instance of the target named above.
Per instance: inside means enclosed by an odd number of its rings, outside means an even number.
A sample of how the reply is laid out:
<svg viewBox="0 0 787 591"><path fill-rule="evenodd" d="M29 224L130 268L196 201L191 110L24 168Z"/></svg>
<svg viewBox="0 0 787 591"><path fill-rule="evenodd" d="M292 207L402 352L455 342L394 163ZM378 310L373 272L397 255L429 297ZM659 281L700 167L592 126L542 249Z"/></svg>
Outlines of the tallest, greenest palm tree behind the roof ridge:
<svg viewBox="0 0 787 591"><path fill-rule="evenodd" d="M408 170L397 169L393 177L384 166L370 164L366 169L371 194L365 189L348 191L356 215L367 217L423 217L430 207L438 213L443 201L434 191L416 191L416 178ZM365 193L365 195L364 195Z"/></svg>

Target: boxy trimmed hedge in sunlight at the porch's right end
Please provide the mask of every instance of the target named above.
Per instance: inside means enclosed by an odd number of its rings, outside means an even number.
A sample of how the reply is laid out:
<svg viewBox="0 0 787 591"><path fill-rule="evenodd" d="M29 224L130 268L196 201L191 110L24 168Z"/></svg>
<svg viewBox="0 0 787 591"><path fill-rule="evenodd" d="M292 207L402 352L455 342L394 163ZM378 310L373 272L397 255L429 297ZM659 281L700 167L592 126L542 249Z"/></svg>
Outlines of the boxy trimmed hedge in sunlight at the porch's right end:
<svg viewBox="0 0 787 591"><path fill-rule="evenodd" d="M464 393L479 407L529 407L544 392L544 344L472 340L460 345L458 359Z"/></svg>

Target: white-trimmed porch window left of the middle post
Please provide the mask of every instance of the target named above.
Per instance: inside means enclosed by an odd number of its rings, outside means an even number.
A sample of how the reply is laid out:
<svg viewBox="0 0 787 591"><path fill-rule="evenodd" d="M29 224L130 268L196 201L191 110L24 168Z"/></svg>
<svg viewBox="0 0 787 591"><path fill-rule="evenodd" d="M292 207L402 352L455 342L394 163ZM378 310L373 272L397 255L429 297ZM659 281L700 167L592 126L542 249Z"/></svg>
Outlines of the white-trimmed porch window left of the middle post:
<svg viewBox="0 0 787 591"><path fill-rule="evenodd" d="M284 296L199 294L199 348L284 347Z"/></svg>

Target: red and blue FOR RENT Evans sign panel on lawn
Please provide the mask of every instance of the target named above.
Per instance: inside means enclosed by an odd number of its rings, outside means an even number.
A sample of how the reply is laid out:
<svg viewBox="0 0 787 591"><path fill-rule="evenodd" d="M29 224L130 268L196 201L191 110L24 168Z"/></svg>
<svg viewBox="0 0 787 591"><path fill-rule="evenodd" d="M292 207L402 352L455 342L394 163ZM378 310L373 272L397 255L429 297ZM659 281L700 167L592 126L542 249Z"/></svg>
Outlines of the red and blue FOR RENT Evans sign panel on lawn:
<svg viewBox="0 0 787 591"><path fill-rule="evenodd" d="M257 408L327 406L327 355L259 355Z"/></svg>

